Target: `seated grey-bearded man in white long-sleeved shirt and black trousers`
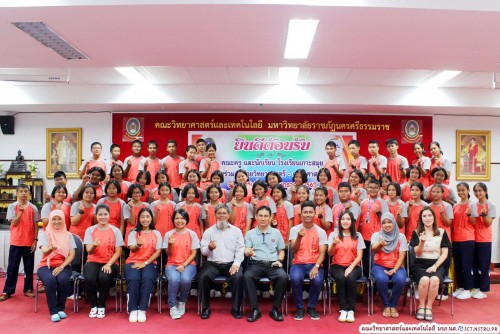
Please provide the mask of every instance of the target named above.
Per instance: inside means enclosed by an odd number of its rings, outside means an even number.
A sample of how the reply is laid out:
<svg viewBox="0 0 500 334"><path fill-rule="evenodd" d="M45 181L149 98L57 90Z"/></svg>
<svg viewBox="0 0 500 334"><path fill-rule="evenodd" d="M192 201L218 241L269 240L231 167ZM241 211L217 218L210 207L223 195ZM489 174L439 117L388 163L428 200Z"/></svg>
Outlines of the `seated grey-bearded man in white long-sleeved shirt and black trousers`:
<svg viewBox="0 0 500 334"><path fill-rule="evenodd" d="M229 224L229 210L226 205L219 204L215 207L217 223L203 233L201 240L201 253L207 257L203 263L198 283L201 294L201 318L210 318L210 282L220 275L229 277L229 286L233 299L231 314L236 319L241 319L243 312L240 310L243 297L243 262L245 250L241 230Z"/></svg>

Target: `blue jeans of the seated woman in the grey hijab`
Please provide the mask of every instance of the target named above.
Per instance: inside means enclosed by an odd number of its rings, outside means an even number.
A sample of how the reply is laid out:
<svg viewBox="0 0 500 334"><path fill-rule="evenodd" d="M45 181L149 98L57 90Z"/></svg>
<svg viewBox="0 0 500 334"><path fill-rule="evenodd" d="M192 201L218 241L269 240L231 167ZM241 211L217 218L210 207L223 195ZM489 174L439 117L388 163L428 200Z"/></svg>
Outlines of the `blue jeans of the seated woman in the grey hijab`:
<svg viewBox="0 0 500 334"><path fill-rule="evenodd" d="M401 267L392 276L384 273L384 270L391 270L392 268L385 268L377 264L372 266L372 276L377 285L377 291L382 299L384 307L396 308L398 305L399 297L403 293L406 282L406 270ZM389 280L392 281L392 294L389 297Z"/></svg>

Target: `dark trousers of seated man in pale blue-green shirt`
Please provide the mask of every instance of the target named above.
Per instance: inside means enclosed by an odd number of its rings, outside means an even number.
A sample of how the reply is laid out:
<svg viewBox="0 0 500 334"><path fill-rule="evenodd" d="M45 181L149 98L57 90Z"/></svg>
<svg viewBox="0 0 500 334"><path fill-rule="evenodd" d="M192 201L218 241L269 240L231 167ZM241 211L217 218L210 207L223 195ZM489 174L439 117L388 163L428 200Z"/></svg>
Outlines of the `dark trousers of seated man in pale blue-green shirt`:
<svg viewBox="0 0 500 334"><path fill-rule="evenodd" d="M245 292L250 302L250 307L258 309L257 304L257 284L261 277L267 277L274 285L273 308L279 308L286 292L288 276L283 268L272 267L272 262L249 261L243 279L245 281Z"/></svg>

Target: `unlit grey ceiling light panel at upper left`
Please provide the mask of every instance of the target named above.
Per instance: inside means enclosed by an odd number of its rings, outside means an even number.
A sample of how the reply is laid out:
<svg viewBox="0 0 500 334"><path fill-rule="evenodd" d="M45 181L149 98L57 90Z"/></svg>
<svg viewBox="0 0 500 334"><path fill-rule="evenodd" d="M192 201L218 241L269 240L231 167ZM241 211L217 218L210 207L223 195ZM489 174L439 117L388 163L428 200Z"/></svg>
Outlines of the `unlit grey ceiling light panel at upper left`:
<svg viewBox="0 0 500 334"><path fill-rule="evenodd" d="M43 22L12 22L12 24L65 59L89 59Z"/></svg>

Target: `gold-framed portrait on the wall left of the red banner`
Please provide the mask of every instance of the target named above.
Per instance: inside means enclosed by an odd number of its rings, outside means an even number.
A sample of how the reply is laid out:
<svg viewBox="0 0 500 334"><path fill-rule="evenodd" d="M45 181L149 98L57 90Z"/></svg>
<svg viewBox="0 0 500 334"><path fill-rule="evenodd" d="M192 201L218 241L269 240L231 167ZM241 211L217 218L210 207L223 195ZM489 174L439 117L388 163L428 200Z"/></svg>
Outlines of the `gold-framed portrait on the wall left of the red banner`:
<svg viewBox="0 0 500 334"><path fill-rule="evenodd" d="M78 178L82 161L82 129L47 129L47 178L62 170L67 178Z"/></svg>

